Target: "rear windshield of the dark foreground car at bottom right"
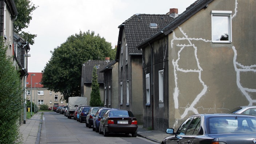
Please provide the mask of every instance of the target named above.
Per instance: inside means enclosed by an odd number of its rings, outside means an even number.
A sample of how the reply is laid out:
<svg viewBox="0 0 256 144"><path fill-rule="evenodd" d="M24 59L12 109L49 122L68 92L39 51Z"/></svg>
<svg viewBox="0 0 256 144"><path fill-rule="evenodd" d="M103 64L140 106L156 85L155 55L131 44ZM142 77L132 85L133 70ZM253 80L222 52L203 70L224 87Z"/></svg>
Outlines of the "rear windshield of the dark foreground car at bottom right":
<svg viewBox="0 0 256 144"><path fill-rule="evenodd" d="M256 133L256 117L210 117L207 122L209 134Z"/></svg>

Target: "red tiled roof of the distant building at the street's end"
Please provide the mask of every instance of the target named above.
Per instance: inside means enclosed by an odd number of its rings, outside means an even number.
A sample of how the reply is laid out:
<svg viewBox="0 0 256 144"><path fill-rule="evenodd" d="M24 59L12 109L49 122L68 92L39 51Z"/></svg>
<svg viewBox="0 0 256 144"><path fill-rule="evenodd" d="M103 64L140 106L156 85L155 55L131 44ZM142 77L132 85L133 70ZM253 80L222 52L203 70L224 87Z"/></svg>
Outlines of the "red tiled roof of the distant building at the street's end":
<svg viewBox="0 0 256 144"><path fill-rule="evenodd" d="M31 74L35 74L35 76L31 76ZM41 72L29 72L27 77L27 88L31 88L31 77L32 77L32 88L42 88L44 85L41 84L42 73Z"/></svg>

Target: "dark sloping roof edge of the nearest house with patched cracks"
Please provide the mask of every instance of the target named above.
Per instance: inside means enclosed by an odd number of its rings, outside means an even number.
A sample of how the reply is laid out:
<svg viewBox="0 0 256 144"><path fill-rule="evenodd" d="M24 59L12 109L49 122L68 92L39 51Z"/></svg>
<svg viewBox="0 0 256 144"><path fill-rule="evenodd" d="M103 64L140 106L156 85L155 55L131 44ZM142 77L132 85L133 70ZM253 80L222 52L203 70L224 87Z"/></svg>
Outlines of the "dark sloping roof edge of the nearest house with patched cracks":
<svg viewBox="0 0 256 144"><path fill-rule="evenodd" d="M208 4L211 3L213 0L197 0L193 4L191 4L189 7L186 8L186 10L181 13L178 17L175 18L171 23L169 23L166 27L155 33L155 35L149 37L147 40L143 41L139 45L137 45L137 48L140 49L140 47L149 41L155 39L156 37L160 35L168 35L171 33L175 28L179 27L181 24L183 24L185 21L187 21L190 17L195 15L197 12L199 12L203 8L207 8Z"/></svg>

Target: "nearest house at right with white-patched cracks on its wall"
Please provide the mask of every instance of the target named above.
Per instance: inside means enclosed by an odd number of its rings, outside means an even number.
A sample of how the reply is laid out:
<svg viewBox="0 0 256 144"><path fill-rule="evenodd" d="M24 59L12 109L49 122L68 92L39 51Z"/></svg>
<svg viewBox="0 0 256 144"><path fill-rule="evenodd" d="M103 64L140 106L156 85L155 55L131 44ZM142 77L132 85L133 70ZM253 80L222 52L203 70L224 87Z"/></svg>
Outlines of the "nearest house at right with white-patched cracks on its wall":
<svg viewBox="0 0 256 144"><path fill-rule="evenodd" d="M256 104L255 7L255 0L197 0L137 45L144 127L164 131L192 114Z"/></svg>

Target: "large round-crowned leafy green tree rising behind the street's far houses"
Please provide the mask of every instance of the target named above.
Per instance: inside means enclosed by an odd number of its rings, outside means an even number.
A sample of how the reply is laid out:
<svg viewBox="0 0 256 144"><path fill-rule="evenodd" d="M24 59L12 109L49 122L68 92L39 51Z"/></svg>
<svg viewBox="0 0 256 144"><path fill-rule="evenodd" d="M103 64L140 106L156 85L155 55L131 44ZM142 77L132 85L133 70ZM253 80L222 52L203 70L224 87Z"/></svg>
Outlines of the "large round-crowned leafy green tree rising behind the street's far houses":
<svg viewBox="0 0 256 144"><path fill-rule="evenodd" d="M76 33L55 48L51 59L44 67L42 84L54 92L60 92L63 99L81 95L82 64L88 60L115 59L111 43L92 31Z"/></svg>

